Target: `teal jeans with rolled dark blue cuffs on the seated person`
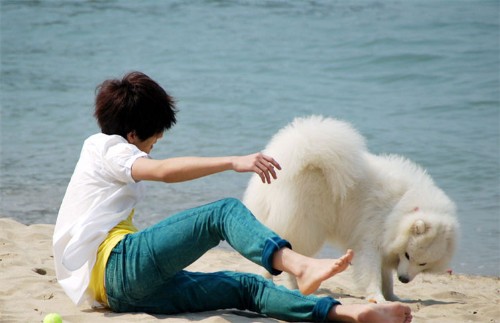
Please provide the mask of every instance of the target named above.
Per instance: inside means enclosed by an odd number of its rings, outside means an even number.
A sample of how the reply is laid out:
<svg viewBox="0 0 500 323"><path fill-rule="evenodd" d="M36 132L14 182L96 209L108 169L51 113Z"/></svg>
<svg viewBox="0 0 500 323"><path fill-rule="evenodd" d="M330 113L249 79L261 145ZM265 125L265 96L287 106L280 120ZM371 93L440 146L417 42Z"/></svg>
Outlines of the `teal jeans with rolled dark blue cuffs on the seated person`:
<svg viewBox="0 0 500 323"><path fill-rule="evenodd" d="M106 294L115 312L178 314L217 309L249 310L287 321L326 321L340 304L304 296L260 275L184 270L207 250L227 241L271 274L274 252L290 244L263 226L236 199L181 212L127 235L106 265Z"/></svg>

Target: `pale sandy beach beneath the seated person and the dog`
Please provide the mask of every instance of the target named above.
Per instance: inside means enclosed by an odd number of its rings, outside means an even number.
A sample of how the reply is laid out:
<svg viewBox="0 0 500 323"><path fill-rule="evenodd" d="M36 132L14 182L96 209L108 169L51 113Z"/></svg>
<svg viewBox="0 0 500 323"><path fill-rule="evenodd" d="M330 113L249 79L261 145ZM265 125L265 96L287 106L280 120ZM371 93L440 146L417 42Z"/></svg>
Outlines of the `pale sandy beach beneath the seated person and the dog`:
<svg viewBox="0 0 500 323"><path fill-rule="evenodd" d="M161 316L77 307L55 278L53 229L53 225L26 226L0 218L0 322L41 322L51 312L61 314L64 322L277 322L238 310ZM260 272L237 253L222 249L210 251L189 269ZM351 275L345 272L325 282L317 293L345 304L366 302L353 286ZM395 291L409 300L414 322L500 322L498 277L421 275L407 285L396 283Z"/></svg>

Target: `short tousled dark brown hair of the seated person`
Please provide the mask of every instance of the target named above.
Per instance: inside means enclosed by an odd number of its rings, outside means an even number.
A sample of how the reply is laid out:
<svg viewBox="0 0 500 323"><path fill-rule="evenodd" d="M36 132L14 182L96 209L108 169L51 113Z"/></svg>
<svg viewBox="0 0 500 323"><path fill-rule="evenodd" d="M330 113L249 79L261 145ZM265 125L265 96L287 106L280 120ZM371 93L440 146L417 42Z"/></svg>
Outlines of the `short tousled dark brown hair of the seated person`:
<svg viewBox="0 0 500 323"><path fill-rule="evenodd" d="M135 131L140 140L146 140L177 121L174 99L144 73L106 80L96 91L94 116L105 134L126 139Z"/></svg>

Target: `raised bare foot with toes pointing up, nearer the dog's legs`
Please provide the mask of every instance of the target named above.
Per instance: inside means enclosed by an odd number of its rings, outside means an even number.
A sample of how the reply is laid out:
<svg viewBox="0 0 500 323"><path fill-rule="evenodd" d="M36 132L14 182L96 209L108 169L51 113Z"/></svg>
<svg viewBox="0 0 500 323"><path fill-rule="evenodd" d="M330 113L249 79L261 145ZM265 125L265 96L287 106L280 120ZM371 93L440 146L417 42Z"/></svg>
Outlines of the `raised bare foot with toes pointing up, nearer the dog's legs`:
<svg viewBox="0 0 500 323"><path fill-rule="evenodd" d="M314 293L323 281L346 270L353 257L354 253L349 249L339 259L309 258L301 272L296 275L300 292L304 295Z"/></svg>

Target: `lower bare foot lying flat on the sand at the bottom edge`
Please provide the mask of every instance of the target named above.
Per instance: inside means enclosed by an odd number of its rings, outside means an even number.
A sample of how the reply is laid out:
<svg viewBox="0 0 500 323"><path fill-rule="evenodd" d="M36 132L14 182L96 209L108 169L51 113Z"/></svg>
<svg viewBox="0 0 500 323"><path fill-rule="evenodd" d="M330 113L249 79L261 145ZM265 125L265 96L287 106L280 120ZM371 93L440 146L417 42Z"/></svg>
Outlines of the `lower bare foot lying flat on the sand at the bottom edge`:
<svg viewBox="0 0 500 323"><path fill-rule="evenodd" d="M342 322L409 323L411 308L401 303L337 305L328 318Z"/></svg>

